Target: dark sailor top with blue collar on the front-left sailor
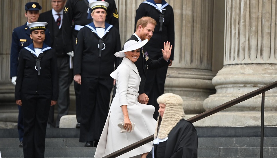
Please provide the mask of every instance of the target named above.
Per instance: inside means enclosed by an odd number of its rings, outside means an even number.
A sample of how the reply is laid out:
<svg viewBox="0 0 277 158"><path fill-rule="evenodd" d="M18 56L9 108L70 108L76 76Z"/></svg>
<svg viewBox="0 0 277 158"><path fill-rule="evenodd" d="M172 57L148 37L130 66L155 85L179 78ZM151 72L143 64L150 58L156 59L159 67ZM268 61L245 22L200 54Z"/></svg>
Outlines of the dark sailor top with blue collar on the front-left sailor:
<svg viewBox="0 0 277 158"><path fill-rule="evenodd" d="M21 93L26 94L52 94L51 100L58 100L58 72L56 52L43 43L40 61L40 72L36 70L34 45L31 44L19 52L17 78L15 85L15 100L21 99Z"/></svg>

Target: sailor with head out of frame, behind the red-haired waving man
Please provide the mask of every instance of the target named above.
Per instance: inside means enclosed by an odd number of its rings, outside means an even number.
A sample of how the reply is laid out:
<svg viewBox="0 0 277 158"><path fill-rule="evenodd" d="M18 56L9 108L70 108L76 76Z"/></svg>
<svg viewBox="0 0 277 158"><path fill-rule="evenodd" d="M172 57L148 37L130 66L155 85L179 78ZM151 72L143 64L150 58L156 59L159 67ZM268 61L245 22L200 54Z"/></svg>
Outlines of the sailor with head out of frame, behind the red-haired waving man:
<svg viewBox="0 0 277 158"><path fill-rule="evenodd" d="M157 25L149 42L144 46L148 52L149 58L157 60L162 57L162 48L164 42L168 41L173 48L171 50L170 62L172 64L174 57L174 14L172 7L164 0L146 0L140 4L136 11L135 26L137 20L143 16L150 16L155 19ZM170 64L170 65L171 65ZM169 65L169 66L170 66ZM164 83L166 79L167 66L159 69L148 70L147 80L144 90L149 97L149 105L155 106L153 117L157 119L159 113L159 104L157 98L164 93Z"/></svg>

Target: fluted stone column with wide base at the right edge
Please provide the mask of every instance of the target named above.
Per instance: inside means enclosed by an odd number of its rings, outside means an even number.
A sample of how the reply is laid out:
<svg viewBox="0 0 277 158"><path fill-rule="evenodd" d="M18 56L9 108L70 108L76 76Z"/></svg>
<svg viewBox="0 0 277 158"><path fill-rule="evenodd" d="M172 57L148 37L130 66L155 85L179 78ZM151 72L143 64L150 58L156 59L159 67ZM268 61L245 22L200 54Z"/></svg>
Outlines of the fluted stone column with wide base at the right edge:
<svg viewBox="0 0 277 158"><path fill-rule="evenodd" d="M204 101L205 110L277 80L276 34L275 0L225 1L224 66L212 79L217 93ZM265 93L265 125L276 125L276 91ZM261 95L209 116L206 126L259 126L259 111Z"/></svg>

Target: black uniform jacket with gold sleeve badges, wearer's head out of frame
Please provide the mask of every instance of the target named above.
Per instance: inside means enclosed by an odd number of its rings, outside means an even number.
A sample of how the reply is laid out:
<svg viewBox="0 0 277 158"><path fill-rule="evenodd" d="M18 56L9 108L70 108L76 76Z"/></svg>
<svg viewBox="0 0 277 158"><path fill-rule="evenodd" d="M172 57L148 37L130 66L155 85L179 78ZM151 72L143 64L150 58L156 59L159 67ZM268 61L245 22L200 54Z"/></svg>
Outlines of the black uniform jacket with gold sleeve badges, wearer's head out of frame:
<svg viewBox="0 0 277 158"><path fill-rule="evenodd" d="M118 11L114 0L105 0L109 3L107 8L106 22L119 29ZM88 18L89 2L87 0L67 0L63 11L63 43L66 52L74 50L78 31L74 25L85 26L91 23L91 16Z"/></svg>

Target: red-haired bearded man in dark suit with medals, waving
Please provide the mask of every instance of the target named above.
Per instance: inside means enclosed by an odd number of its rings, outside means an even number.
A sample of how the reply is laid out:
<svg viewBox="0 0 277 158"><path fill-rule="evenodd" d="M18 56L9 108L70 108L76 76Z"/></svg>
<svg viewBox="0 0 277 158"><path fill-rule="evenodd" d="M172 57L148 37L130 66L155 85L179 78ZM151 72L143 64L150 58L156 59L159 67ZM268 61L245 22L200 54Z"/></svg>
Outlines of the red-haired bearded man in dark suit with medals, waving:
<svg viewBox="0 0 277 158"><path fill-rule="evenodd" d="M145 16L140 18L139 20L137 20L135 33L131 35L131 37L127 41L135 40L137 42L141 42L145 39L148 39L149 41L153 35L155 25L157 25L157 22L151 17ZM148 95L146 95L144 92L147 69L157 69L170 64L169 57L170 57L171 49L172 49L172 46L170 46L170 43L164 44L163 57L159 58L158 60L152 60L152 59L149 59L147 51L141 48L140 58L137 59L137 61L135 62L135 65L137 66L137 70L141 78L140 87L139 87L139 96L138 96L138 102L140 102L141 104L147 104L149 101ZM120 60L120 62L121 61L122 59ZM116 85L113 90L113 97L115 95L115 92L116 92Z"/></svg>

